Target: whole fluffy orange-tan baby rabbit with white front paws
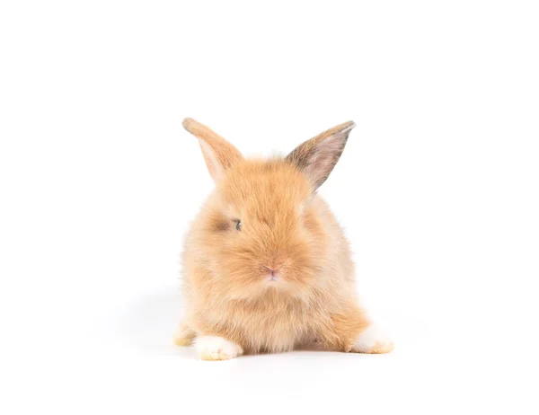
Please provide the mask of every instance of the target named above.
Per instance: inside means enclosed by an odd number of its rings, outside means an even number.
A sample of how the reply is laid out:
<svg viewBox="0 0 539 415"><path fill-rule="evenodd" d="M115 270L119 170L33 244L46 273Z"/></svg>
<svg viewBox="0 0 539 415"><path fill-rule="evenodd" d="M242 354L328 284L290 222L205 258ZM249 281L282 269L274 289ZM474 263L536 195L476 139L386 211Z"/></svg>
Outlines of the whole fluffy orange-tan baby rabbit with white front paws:
<svg viewBox="0 0 539 415"><path fill-rule="evenodd" d="M316 348L387 353L358 304L349 242L316 190L338 162L352 121L286 157L247 159L194 119L215 190L186 234L186 315L174 335L203 360Z"/></svg>

